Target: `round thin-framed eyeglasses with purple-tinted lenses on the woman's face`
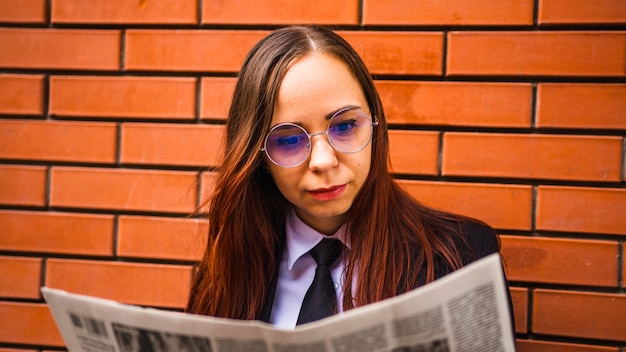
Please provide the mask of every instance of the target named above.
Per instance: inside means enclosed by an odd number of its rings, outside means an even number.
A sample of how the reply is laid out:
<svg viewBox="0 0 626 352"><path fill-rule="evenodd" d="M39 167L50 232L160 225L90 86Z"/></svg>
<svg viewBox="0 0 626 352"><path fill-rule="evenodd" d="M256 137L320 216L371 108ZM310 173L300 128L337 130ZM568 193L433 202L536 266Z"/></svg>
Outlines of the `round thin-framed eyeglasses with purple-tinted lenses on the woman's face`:
<svg viewBox="0 0 626 352"><path fill-rule="evenodd" d="M311 138L325 134L335 150L346 154L356 153L367 146L377 125L378 121L372 122L361 110L342 109L329 119L326 131L308 133L294 123L280 123L272 127L261 151L278 166L295 167L311 154Z"/></svg>

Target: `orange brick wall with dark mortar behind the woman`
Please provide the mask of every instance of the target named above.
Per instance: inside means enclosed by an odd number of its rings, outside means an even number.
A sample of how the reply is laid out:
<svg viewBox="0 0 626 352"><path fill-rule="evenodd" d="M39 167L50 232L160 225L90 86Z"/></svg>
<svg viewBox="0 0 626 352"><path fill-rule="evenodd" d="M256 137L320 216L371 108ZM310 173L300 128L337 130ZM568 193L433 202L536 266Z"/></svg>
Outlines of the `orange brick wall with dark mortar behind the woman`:
<svg viewBox="0 0 626 352"><path fill-rule="evenodd" d="M624 0L0 0L0 351L62 349L42 285L184 306L236 71L311 22L400 182L502 234L519 350L623 352Z"/></svg>

